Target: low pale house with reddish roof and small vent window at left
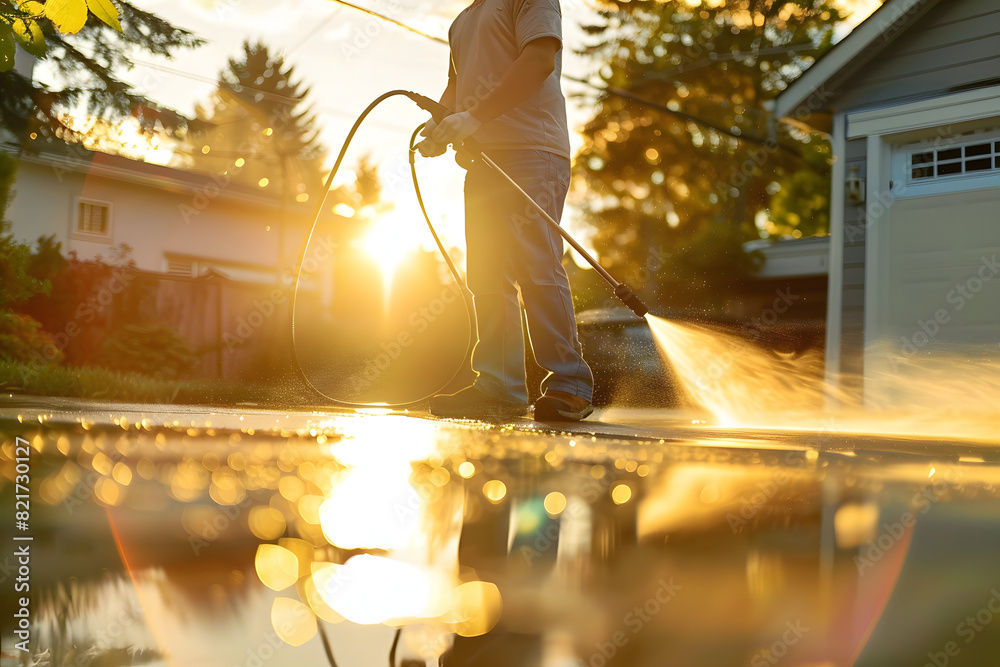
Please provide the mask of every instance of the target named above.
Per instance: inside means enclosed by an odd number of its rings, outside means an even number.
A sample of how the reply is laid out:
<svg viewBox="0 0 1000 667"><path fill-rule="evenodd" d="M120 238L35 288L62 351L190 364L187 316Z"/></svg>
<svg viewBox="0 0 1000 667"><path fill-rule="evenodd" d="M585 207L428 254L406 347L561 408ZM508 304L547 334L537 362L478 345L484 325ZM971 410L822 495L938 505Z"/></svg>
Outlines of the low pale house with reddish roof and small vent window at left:
<svg viewBox="0 0 1000 667"><path fill-rule="evenodd" d="M139 269L197 277L290 283L310 206L282 204L276 189L251 190L229 175L180 169L34 142L18 155L7 218L16 237L54 234L63 252L109 257L126 243Z"/></svg>

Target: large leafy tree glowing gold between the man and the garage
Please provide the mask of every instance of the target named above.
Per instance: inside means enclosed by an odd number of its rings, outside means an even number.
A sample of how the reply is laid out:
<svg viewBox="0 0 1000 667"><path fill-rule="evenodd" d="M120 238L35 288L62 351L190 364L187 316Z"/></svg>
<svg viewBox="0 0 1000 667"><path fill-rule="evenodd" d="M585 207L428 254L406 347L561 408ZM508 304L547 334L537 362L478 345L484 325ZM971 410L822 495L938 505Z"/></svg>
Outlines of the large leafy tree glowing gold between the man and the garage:
<svg viewBox="0 0 1000 667"><path fill-rule="evenodd" d="M828 168L818 136L769 133L765 103L829 48L841 15L827 0L602 4L583 53L606 92L576 174L595 246L626 277L656 253L639 285L654 303L718 305L752 266L742 243L784 179Z"/></svg>

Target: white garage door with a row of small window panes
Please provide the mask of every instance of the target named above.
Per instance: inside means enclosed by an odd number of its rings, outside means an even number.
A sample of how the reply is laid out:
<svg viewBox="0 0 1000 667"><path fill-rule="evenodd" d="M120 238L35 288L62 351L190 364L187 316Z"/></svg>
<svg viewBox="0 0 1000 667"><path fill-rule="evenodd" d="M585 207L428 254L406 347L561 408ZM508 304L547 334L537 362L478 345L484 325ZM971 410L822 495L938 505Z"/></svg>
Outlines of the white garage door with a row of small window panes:
<svg viewBox="0 0 1000 667"><path fill-rule="evenodd" d="M938 132L886 149L891 194L868 237L866 343L897 361L997 346L1000 131ZM867 355L868 379L883 377L887 363Z"/></svg>

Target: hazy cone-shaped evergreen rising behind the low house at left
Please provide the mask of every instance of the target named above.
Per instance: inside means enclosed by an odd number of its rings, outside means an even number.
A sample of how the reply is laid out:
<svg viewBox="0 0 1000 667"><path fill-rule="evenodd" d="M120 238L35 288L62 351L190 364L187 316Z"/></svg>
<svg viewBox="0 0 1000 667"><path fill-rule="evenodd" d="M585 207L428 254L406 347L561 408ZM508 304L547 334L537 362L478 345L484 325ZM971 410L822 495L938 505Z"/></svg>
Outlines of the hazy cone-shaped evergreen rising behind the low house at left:
<svg viewBox="0 0 1000 667"><path fill-rule="evenodd" d="M203 122L187 140L193 168L309 201L323 183L324 150L308 94L280 55L244 42L242 57L230 58L212 99L198 107Z"/></svg>

